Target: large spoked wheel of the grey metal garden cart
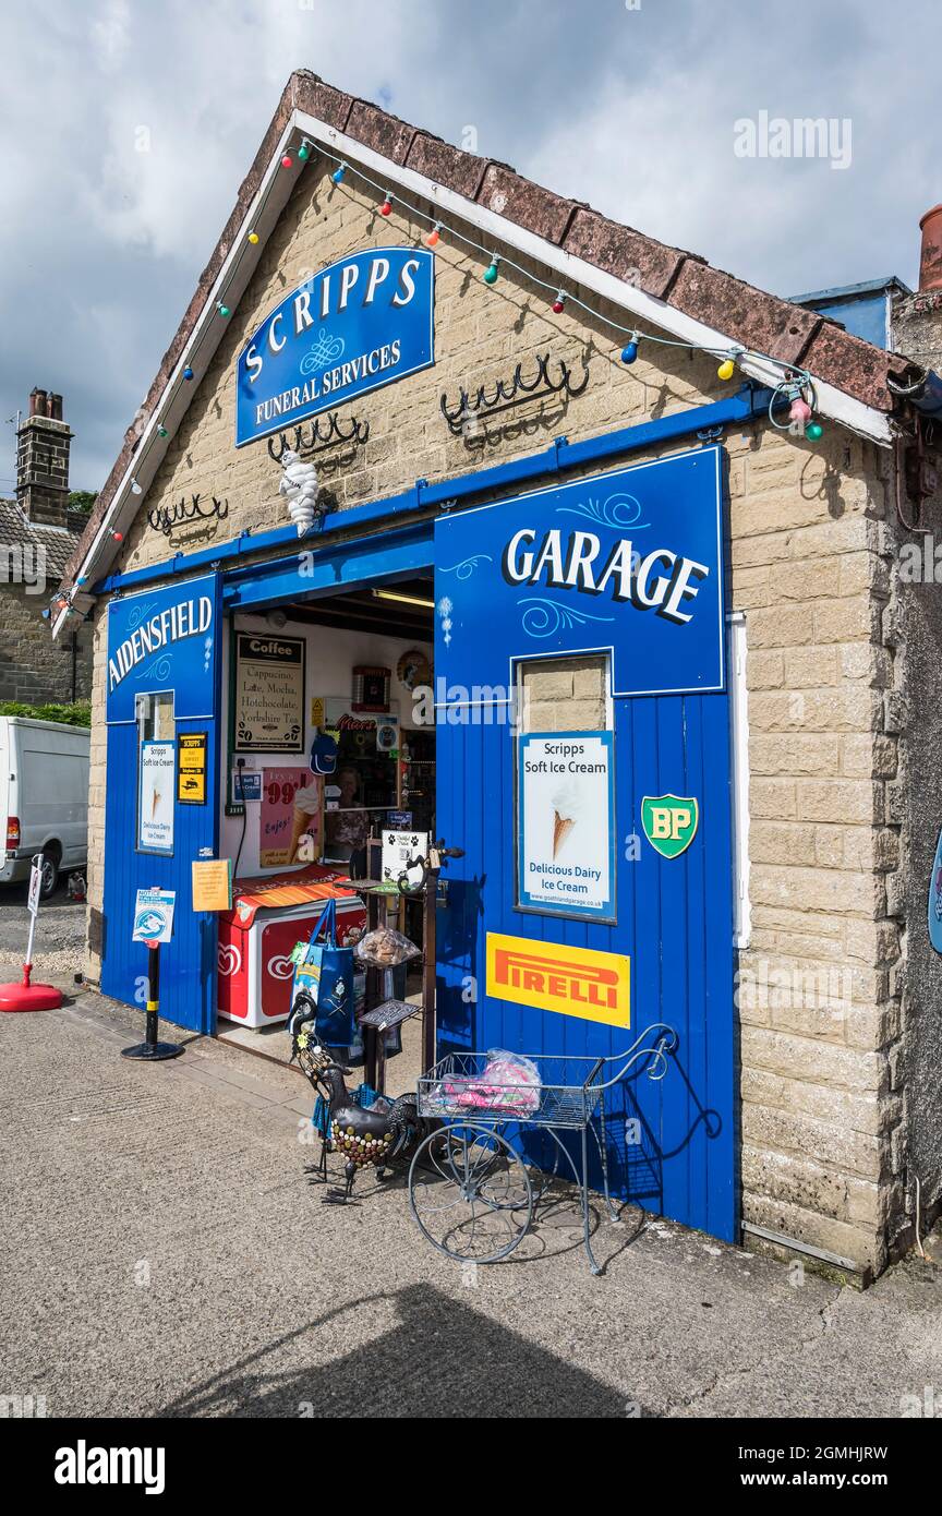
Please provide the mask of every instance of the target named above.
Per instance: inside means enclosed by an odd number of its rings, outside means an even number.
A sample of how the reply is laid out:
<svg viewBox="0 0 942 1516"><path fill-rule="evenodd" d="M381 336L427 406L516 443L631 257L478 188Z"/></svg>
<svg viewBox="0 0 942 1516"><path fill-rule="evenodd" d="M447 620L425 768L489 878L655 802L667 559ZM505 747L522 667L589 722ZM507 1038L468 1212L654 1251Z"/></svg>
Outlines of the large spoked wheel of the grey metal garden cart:
<svg viewBox="0 0 942 1516"><path fill-rule="evenodd" d="M530 1228L533 1189L526 1164L494 1128L444 1126L415 1151L409 1208L447 1258L497 1263Z"/></svg>

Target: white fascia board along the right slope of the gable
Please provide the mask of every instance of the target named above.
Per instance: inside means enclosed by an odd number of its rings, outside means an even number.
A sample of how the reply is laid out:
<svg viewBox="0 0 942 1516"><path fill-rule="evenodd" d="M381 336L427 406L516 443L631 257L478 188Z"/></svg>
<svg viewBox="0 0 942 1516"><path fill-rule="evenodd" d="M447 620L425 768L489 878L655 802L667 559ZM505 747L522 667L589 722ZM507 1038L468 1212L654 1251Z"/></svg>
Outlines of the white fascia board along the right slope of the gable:
<svg viewBox="0 0 942 1516"><path fill-rule="evenodd" d="M515 247L524 256L533 258L536 262L557 273L560 283L583 285L583 288L592 290L604 300L610 300L612 305L621 306L632 317L639 317L668 332L678 343L689 343L691 347L703 347L707 352L728 353L731 356L739 352L742 344L736 343L725 332L718 332L715 327L694 320L692 315L685 315L683 311L666 305L666 302L645 294L644 290L625 283L624 279L618 279L615 274L609 274L603 268L597 268L594 264L566 253L554 243L548 243L535 232L527 232L526 227L516 226L513 221L498 215L495 211L489 211L476 200L466 200L454 190L445 190L413 168L391 164L382 153L374 152L371 147L363 147L356 138L338 132L336 127L327 126L326 121L320 121L304 111L297 111L295 118L300 132L310 136L315 143L329 146L338 158L348 159L351 165L359 161L380 179L388 180L391 188L394 183L398 183L400 188L409 190L421 200L430 200L442 212L442 220L453 215L477 227L485 236L492 236L495 243ZM353 171L356 173L356 168ZM738 364L744 373L750 374L759 384L774 388L781 379L781 367L768 359L744 356L738 358ZM889 418L881 411L865 405L862 400L854 400L853 396L844 394L842 390L836 390L819 379L813 382L818 396L818 409L824 415L859 432L862 437L869 437L875 443L881 443L883 446L891 444L892 432Z"/></svg>

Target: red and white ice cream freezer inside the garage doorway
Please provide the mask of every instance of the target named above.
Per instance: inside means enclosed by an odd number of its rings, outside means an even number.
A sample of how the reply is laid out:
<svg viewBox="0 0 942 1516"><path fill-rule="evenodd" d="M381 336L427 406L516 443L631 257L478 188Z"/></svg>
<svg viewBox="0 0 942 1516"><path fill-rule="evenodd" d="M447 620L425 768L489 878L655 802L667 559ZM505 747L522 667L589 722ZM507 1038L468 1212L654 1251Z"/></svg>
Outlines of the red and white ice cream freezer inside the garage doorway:
<svg viewBox="0 0 942 1516"><path fill-rule="evenodd" d="M336 899L341 946L367 929L359 894L338 884L344 875L323 864L268 879L236 879L232 911L220 911L220 1016L242 1026L283 1022L291 1011L295 943L310 937L326 902Z"/></svg>

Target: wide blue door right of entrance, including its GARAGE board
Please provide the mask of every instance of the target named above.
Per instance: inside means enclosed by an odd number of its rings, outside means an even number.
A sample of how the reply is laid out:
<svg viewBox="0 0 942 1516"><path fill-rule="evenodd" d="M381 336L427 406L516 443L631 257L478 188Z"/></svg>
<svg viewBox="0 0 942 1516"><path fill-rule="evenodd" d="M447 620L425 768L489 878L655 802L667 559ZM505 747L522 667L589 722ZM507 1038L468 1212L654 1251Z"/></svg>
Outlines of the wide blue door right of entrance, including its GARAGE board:
<svg viewBox="0 0 942 1516"><path fill-rule="evenodd" d="M733 1239L721 462L707 447L436 522L438 823L465 849L439 922L438 1025L445 1049L600 1057L668 1022L678 1034L668 1075L613 1092L615 1189ZM579 908L539 914L521 908L518 893L515 725L527 717L515 691L535 659L565 667L575 652L610 670L613 922ZM565 702L557 725L563 734L572 725ZM695 834L678 855L665 857L645 835L645 796L697 802ZM489 978L491 934L524 948L627 955L630 1026L504 999ZM527 961L539 966L539 946Z"/></svg>

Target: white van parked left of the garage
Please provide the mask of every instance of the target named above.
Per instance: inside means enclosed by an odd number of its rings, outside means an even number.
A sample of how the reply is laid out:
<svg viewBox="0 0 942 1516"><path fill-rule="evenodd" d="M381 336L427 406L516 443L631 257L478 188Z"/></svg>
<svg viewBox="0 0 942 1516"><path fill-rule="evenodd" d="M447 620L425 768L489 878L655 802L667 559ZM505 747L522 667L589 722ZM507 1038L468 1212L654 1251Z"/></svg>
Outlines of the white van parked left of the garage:
<svg viewBox="0 0 942 1516"><path fill-rule="evenodd" d="M6 829L0 884L29 879L38 852L44 896L62 869L85 866L89 746L86 726L0 716L0 829Z"/></svg>

